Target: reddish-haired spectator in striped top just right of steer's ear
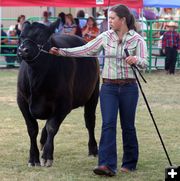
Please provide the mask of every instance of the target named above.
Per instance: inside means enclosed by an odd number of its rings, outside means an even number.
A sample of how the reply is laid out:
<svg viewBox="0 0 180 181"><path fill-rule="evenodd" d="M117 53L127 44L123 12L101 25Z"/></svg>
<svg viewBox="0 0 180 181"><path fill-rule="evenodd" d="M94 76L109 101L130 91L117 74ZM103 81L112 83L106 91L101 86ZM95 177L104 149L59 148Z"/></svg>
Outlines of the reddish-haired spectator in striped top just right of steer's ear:
<svg viewBox="0 0 180 181"><path fill-rule="evenodd" d="M66 35L75 35L76 28L77 28L77 25L75 24L73 15L71 13L66 14L65 24L64 24L62 33L66 34Z"/></svg>

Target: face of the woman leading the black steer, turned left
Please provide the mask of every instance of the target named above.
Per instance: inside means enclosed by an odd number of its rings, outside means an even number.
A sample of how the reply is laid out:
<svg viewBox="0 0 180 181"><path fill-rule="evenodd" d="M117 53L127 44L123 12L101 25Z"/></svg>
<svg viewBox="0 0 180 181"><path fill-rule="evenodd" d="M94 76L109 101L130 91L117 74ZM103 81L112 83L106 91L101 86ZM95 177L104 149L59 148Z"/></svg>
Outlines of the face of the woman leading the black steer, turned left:
<svg viewBox="0 0 180 181"><path fill-rule="evenodd" d="M122 28L124 23L124 18L120 18L117 16L117 14L113 11L110 11L109 13L109 25L111 29L114 31L118 31Z"/></svg>

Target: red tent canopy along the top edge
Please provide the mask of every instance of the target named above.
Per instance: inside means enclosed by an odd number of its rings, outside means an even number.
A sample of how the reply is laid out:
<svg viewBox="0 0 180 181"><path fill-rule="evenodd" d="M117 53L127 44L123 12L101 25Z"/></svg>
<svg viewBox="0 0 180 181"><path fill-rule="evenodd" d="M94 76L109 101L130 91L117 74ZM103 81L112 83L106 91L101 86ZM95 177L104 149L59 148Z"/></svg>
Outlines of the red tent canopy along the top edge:
<svg viewBox="0 0 180 181"><path fill-rule="evenodd" d="M142 8L143 0L0 0L0 6L98 7L115 4Z"/></svg>

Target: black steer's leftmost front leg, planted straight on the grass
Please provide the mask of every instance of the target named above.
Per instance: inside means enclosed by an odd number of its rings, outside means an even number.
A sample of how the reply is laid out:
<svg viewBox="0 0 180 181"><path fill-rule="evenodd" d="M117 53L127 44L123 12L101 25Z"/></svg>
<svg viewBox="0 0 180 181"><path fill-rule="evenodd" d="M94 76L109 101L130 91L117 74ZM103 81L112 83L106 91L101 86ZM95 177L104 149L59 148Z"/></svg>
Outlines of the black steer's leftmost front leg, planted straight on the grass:
<svg viewBox="0 0 180 181"><path fill-rule="evenodd" d="M24 116L24 119L26 121L28 134L30 137L30 150L29 150L29 162L28 166L39 166L39 150L37 146L37 135L38 135L38 123L36 119L34 119L30 112L29 112L29 106L25 100L18 95L17 102L19 105L19 108Z"/></svg>

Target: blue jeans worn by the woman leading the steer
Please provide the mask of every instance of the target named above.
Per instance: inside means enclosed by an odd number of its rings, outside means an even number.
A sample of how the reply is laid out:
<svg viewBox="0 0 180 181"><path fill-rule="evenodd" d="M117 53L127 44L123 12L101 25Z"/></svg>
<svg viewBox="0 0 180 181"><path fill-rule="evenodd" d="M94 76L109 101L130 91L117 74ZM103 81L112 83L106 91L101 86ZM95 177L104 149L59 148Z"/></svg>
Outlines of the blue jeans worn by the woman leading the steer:
<svg viewBox="0 0 180 181"><path fill-rule="evenodd" d="M123 140L122 167L136 169L138 141L135 128L135 113L138 102L136 83L117 85L103 83L100 91L102 132L99 143L98 165L117 171L116 125L118 110Z"/></svg>

